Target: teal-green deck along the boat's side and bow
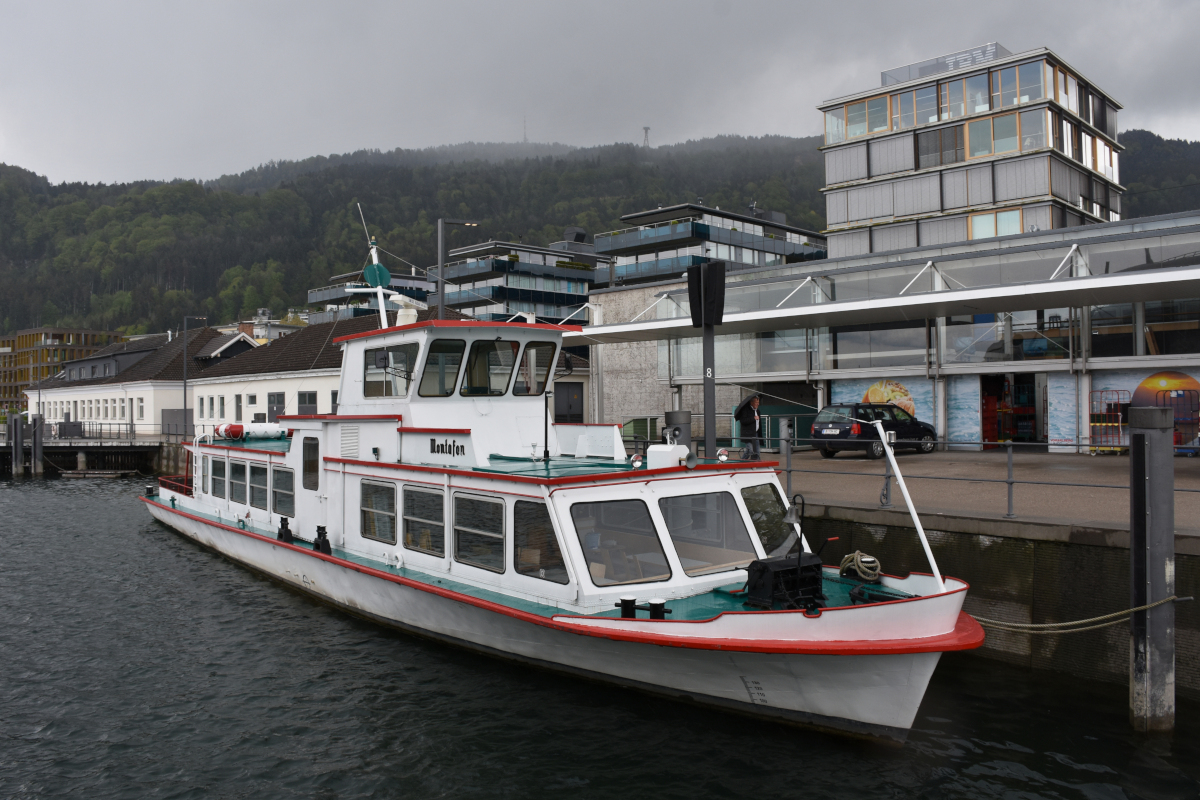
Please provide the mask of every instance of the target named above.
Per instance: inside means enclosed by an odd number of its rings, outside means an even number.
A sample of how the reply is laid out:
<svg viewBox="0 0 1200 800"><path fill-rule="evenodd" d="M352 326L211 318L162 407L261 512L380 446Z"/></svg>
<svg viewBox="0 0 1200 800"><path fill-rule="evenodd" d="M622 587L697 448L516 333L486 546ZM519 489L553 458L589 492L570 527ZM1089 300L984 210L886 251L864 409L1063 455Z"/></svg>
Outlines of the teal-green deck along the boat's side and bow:
<svg viewBox="0 0 1200 800"><path fill-rule="evenodd" d="M224 525L239 525L238 519L229 517L221 517L217 515L206 513L196 509L180 509L186 511L193 517L199 517L202 519L209 519L211 522L221 523ZM256 525L245 525L245 530L248 530L259 536L266 536L268 539L275 539L276 531L265 530ZM301 547L312 546L310 540L302 539L293 534L294 543ZM397 577L406 578L408 581L414 581L416 583L424 583L431 587L438 587L440 589L448 589L468 597L475 597L478 600L485 600L487 602L493 602L499 606L505 606L516 610L527 612L530 614L536 614L539 616L556 616L563 614L576 614L562 606L554 606L551 603L538 602L534 600L526 600L522 597L514 597L512 595L504 594L500 591L494 591L491 589L485 589L469 583L463 583L461 581L455 581L449 575L440 575L434 572L425 572L421 570L414 570L407 566L395 566L385 561L379 561L377 559L366 558L358 553L350 553L343 551L338 547L332 548L332 554L335 558L342 559L350 564L358 564L360 566L370 567L372 570L378 570L379 572L386 572L395 575ZM686 621L703 621L713 619L720 614L730 612L749 612L749 610L761 610L758 608L746 606L743 602L742 590L744 588L744 582L730 583L709 591L703 591L701 594L691 595L690 597L673 597L667 600L667 608L671 609L671 614L667 616L670 620L686 620ZM848 581L840 578L833 567L826 567L823 591L826 595L826 607L827 608L839 608L844 606L852 606L853 601L850 596L850 590L859 585L859 582ZM883 594L888 596L894 596L896 600L905 597L911 597L912 595L905 594L896 589L888 589L886 587L872 587L872 594ZM654 596L653 584L635 584L629 587L629 594L636 595L640 604L644 604L646 601ZM644 612L642 612L644 614ZM584 614L586 616L620 616L619 608L611 608L600 612L594 612L592 614Z"/></svg>

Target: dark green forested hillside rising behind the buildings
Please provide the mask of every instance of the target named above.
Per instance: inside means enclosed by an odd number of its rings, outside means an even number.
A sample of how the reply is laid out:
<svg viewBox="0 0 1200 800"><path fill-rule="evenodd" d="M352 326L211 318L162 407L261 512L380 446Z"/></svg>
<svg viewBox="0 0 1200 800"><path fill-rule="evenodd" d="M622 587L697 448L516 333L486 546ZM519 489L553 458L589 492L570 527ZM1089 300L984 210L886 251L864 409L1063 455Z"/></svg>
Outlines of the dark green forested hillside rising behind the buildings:
<svg viewBox="0 0 1200 800"><path fill-rule="evenodd" d="M1172 188L1196 182L1200 144L1145 131L1122 140L1127 216L1200 207L1200 187ZM383 247L422 266L434 261L439 216L482 221L455 230L451 246L486 237L545 245L565 225L611 230L624 213L697 197L736 210L756 201L821 229L818 144L466 144L277 162L205 185L50 185L0 164L0 330L144 332L176 326L185 313L216 323L302 305L307 289L361 266L355 203Z"/></svg>

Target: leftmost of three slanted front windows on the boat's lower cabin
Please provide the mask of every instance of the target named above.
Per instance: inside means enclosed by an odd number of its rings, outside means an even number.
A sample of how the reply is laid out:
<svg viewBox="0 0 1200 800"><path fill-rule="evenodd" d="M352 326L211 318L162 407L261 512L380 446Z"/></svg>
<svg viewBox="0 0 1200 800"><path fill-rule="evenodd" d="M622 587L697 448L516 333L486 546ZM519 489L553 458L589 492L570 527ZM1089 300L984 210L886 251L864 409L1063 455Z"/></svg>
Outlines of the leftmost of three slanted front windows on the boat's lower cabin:
<svg viewBox="0 0 1200 800"><path fill-rule="evenodd" d="M571 519L595 585L648 583L671 577L654 521L641 500L576 503L571 506Z"/></svg>

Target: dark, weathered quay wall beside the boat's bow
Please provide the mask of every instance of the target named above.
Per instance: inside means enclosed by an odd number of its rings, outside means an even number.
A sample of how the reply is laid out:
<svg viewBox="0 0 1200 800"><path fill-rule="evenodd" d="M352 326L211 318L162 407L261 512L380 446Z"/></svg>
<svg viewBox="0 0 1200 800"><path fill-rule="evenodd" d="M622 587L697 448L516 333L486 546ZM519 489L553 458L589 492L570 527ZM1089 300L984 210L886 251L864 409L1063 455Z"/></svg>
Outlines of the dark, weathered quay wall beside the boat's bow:
<svg viewBox="0 0 1200 800"><path fill-rule="evenodd" d="M1013 622L1062 622L1129 608L1129 533L972 517L923 518L943 575L971 584L964 609ZM907 511L810 504L809 545L838 564L862 551L890 575L929 572ZM1200 536L1175 539L1175 594L1200 596ZM1175 604L1175 680L1181 697L1200 698L1200 602ZM988 631L977 655L1034 669L1128 682L1129 626L1032 636Z"/></svg>

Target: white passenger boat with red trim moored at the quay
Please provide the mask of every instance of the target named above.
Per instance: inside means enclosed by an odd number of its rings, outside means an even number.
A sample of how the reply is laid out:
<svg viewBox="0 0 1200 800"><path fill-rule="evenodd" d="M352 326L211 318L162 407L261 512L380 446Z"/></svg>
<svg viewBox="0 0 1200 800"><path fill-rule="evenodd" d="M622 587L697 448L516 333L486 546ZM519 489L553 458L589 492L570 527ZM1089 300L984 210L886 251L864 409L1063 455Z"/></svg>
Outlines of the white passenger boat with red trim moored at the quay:
<svg viewBox="0 0 1200 800"><path fill-rule="evenodd" d="M941 654L983 642L967 585L936 567L876 582L822 569L785 519L774 464L697 462L682 445L637 462L619 426L548 425L563 330L430 321L337 339L337 414L281 417L282 440L196 441L191 474L143 500L185 536L388 626L901 736Z"/></svg>

